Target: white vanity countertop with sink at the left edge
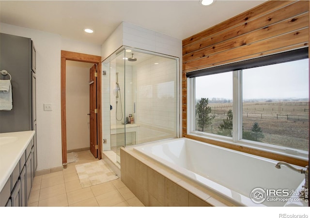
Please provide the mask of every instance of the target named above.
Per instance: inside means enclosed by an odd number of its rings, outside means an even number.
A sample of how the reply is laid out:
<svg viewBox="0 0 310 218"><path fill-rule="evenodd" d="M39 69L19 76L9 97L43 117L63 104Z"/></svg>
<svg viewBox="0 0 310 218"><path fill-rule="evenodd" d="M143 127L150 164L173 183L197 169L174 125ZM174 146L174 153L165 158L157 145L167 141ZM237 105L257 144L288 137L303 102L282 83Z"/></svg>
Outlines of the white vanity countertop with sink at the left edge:
<svg viewBox="0 0 310 218"><path fill-rule="evenodd" d="M0 191L31 141L34 131L0 133Z"/></svg>

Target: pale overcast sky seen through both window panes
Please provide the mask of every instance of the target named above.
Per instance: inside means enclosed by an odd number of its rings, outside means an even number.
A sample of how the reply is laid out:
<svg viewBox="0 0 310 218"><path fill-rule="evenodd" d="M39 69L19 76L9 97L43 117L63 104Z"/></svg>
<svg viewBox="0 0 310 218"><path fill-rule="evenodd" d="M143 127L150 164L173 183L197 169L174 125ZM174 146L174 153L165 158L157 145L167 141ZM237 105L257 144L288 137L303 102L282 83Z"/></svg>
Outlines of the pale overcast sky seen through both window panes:
<svg viewBox="0 0 310 218"><path fill-rule="evenodd" d="M243 99L309 98L309 59L243 70ZM233 99L233 73L196 78L196 99Z"/></svg>

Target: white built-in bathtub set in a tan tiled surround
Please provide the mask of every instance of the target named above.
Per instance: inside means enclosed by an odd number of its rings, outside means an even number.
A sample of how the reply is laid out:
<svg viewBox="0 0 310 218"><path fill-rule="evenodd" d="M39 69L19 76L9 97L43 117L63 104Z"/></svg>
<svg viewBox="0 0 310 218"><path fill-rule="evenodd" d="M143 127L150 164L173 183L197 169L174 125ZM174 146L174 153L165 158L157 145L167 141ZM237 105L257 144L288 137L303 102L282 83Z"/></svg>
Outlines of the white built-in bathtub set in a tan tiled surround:
<svg viewBox="0 0 310 218"><path fill-rule="evenodd" d="M186 138L149 143L134 149L237 206L307 205L304 201L287 202L286 199L290 197L281 198L282 201L271 201L270 198L267 201L266 198L262 203L255 203L250 199L252 190L257 187L266 191L301 190L305 175L285 166L277 169L277 161L272 159ZM292 199L298 198L292 197L291 201Z"/></svg>

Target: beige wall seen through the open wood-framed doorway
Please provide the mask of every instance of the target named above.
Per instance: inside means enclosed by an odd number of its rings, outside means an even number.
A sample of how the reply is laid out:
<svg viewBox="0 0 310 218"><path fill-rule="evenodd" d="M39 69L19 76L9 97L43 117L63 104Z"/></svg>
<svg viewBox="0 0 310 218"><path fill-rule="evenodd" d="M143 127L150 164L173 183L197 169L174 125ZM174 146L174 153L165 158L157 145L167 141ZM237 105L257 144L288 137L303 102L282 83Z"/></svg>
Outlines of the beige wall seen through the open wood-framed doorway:
<svg viewBox="0 0 310 218"><path fill-rule="evenodd" d="M89 70L93 63L66 61L67 150L89 148Z"/></svg>

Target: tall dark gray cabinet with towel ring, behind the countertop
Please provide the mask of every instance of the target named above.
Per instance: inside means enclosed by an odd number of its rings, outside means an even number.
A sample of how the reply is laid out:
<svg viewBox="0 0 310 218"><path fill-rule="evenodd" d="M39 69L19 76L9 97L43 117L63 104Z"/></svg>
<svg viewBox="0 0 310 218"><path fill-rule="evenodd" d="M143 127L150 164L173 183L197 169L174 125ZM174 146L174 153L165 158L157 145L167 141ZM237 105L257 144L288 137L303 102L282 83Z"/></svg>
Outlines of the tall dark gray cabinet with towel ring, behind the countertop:
<svg viewBox="0 0 310 218"><path fill-rule="evenodd" d="M36 49L31 38L5 33L0 33L0 45L0 70L6 70L12 77L13 97L13 109L0 110L0 133L35 130L34 175L37 166ZM0 74L0 79L8 78Z"/></svg>

